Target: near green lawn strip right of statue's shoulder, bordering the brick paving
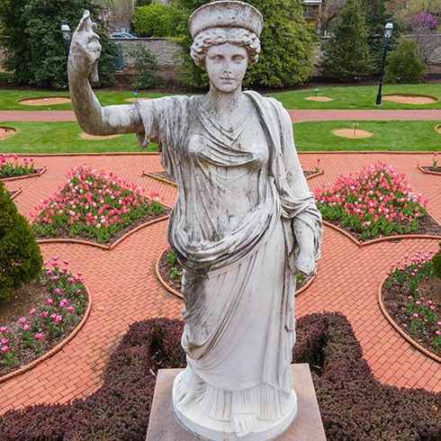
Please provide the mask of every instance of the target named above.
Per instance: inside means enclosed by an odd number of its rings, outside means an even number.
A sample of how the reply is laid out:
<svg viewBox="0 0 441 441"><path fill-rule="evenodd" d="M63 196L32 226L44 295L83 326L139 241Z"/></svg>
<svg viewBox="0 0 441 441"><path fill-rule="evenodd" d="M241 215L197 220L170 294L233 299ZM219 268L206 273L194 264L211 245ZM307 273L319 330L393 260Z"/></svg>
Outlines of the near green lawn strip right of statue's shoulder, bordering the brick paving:
<svg viewBox="0 0 441 441"><path fill-rule="evenodd" d="M367 130L370 138L348 139L336 129ZM295 147L299 151L441 151L441 121L312 121L293 124Z"/></svg>

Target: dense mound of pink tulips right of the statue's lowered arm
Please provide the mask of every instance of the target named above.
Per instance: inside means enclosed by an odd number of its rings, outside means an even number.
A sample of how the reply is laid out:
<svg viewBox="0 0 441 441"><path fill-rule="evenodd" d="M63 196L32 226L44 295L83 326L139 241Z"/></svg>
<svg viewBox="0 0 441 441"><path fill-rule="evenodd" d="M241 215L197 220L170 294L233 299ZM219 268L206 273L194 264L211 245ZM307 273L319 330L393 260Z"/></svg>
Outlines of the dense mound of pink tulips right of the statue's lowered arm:
<svg viewBox="0 0 441 441"><path fill-rule="evenodd" d="M392 231L410 233L426 214L428 199L421 204L404 179L386 163L363 166L355 175L340 175L333 185L315 191L318 208L326 220L339 220L342 227L361 233L361 239L389 236Z"/></svg>

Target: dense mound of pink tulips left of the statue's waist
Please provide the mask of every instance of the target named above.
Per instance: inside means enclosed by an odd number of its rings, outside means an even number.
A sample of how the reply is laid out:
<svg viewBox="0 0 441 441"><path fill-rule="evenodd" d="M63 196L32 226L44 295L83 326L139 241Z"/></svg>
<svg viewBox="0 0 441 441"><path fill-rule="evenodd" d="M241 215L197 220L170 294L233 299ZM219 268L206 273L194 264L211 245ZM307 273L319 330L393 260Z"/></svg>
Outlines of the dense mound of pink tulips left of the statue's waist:
<svg viewBox="0 0 441 441"><path fill-rule="evenodd" d="M84 232L88 238L108 242L146 211L151 215L164 211L158 193L146 199L141 187L112 173L106 175L85 165L73 168L67 177L61 192L34 207L39 214L31 213L33 228L42 236L67 229L71 238Z"/></svg>

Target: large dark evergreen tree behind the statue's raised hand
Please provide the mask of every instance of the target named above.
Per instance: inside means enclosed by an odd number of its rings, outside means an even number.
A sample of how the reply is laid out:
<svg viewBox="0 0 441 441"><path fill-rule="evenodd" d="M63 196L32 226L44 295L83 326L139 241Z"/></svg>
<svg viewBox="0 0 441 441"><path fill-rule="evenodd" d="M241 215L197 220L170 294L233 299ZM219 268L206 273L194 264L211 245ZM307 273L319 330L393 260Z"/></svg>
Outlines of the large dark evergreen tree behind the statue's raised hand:
<svg viewBox="0 0 441 441"><path fill-rule="evenodd" d="M4 67L14 71L18 84L67 88L67 48L61 36L61 23L66 20L76 29L83 11L97 16L98 6L91 0L1 0L0 44L5 49ZM112 41L98 33L103 46L98 66L101 84L111 84L113 77L107 67L115 56Z"/></svg>

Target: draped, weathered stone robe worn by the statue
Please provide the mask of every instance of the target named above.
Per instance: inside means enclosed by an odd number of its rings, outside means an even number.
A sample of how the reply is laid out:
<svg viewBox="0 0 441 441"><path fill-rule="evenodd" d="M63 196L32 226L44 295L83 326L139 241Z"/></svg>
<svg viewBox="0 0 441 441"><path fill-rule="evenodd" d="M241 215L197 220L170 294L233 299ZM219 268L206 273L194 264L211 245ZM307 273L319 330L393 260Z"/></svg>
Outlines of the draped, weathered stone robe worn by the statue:
<svg viewBox="0 0 441 441"><path fill-rule="evenodd" d="M321 216L289 114L273 98L244 94L253 111L229 129L198 96L133 105L144 127L139 144L157 142L179 189L167 238L183 265L182 345L204 383L199 405L215 419L236 408L274 420L293 405L293 226L312 231L318 260Z"/></svg>

